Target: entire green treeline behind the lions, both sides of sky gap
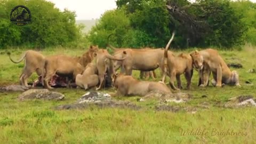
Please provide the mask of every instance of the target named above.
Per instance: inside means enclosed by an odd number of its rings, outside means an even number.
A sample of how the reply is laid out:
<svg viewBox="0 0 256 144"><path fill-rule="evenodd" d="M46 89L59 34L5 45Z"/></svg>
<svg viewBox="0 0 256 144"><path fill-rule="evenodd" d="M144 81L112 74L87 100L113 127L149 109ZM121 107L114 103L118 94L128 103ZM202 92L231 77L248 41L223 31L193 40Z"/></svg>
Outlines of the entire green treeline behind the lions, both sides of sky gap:
<svg viewBox="0 0 256 144"><path fill-rule="evenodd" d="M234 48L256 45L256 4L229 0L117 0L117 9L105 12L84 35L73 11L61 12L45 0L0 0L0 49L85 46L88 42L116 47L164 47L175 30L172 47ZM31 23L10 22L14 6L25 5Z"/></svg>

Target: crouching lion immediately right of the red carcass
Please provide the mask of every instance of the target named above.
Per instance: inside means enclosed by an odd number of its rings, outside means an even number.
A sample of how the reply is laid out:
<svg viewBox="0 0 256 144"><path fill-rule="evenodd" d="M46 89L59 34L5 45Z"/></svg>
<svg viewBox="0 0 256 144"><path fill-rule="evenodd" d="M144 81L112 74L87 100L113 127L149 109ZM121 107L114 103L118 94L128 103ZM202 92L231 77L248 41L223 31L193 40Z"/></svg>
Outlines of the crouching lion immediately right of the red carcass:
<svg viewBox="0 0 256 144"><path fill-rule="evenodd" d="M83 74L76 76L76 85L87 90L93 86L97 86L99 83L98 69L94 63L88 63L85 67Z"/></svg>

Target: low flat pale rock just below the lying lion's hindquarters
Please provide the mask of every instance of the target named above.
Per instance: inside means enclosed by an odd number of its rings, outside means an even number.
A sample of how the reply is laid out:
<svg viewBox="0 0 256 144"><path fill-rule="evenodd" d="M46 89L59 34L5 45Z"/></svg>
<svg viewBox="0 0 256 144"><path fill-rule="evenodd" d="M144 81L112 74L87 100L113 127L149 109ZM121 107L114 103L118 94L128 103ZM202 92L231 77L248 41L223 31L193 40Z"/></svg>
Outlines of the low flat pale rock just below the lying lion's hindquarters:
<svg viewBox="0 0 256 144"><path fill-rule="evenodd" d="M191 95L188 93L183 92L177 92L177 93L161 93L161 92L150 92L144 97L142 97L139 101L146 101L148 99L155 99L159 102L187 102L189 99L191 99Z"/></svg>

